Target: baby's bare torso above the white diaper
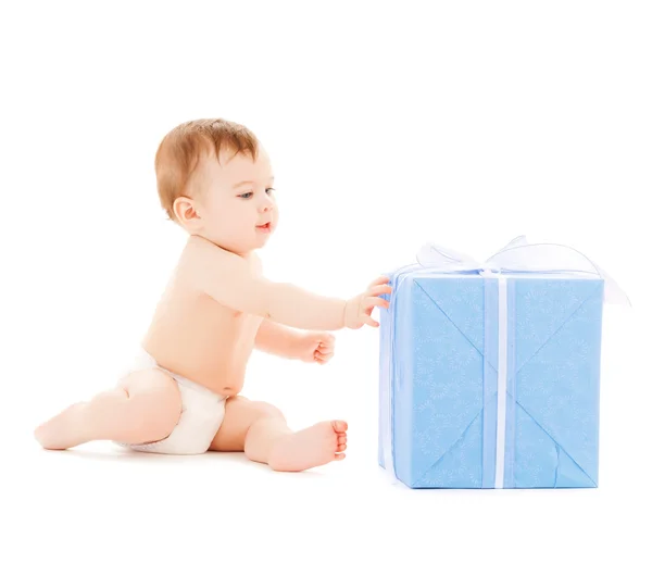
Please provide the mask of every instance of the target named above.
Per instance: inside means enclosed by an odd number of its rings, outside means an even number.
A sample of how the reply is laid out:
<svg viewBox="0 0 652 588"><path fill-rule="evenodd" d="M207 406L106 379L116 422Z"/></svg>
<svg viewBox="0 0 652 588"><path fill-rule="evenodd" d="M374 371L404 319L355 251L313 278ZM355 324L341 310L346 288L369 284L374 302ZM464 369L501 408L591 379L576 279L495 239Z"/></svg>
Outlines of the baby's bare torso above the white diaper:
<svg viewBox="0 0 652 588"><path fill-rule="evenodd" d="M234 311L192 288L193 254L192 247L181 253L142 347L162 367L216 393L234 396L242 390L262 318ZM252 273L261 272L256 257L250 263Z"/></svg>

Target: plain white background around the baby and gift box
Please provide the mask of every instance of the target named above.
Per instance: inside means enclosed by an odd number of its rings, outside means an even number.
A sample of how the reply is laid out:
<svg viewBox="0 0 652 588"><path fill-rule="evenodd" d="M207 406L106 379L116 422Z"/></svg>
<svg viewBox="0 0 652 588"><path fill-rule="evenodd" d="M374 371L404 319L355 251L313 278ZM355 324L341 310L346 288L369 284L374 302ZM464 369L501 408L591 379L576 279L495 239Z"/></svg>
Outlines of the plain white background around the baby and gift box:
<svg viewBox="0 0 652 588"><path fill-rule="evenodd" d="M650 586L650 30L628 1L3 3L0 585ZM606 268L632 308L605 310L601 487L392 486L371 328L327 366L256 354L243 392L348 420L343 463L42 451L147 328L185 238L154 151L203 116L272 157L269 277L353 296L426 240L522 234Z"/></svg>

